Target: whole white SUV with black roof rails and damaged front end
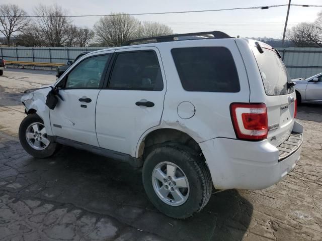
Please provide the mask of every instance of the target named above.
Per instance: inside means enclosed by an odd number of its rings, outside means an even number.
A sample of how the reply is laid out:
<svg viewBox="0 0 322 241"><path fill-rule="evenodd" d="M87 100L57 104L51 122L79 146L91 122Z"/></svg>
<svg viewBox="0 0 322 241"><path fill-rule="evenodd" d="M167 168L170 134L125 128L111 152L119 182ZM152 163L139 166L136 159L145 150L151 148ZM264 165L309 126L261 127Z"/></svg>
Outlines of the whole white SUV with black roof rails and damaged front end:
<svg viewBox="0 0 322 241"><path fill-rule="evenodd" d="M147 41L91 52L52 90L24 95L24 149L45 158L63 144L143 167L147 196L175 218L213 186L263 189L294 168L302 126L275 49L217 31Z"/></svg>

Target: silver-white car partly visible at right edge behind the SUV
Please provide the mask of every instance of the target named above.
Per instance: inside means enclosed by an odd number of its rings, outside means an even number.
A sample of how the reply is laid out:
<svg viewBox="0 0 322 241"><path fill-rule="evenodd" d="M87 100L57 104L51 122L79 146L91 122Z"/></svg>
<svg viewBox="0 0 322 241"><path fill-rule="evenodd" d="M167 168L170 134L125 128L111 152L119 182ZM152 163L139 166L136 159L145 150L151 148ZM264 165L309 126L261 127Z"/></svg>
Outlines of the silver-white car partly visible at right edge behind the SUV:
<svg viewBox="0 0 322 241"><path fill-rule="evenodd" d="M292 79L295 85L297 104L301 102L322 103L322 73L308 78Z"/></svg>

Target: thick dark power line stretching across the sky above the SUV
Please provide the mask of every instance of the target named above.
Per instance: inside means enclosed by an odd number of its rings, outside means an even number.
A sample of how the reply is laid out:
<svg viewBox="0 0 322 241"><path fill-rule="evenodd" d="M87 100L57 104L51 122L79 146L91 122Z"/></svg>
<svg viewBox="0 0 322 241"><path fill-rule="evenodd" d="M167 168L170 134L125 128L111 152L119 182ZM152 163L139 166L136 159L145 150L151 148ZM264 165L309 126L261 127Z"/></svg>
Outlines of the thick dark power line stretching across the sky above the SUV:
<svg viewBox="0 0 322 241"><path fill-rule="evenodd" d="M266 10L269 8L285 7L288 4L282 5L271 5L271 6L258 6L258 7L247 7L247 8L231 8L231 9L212 9L212 10L196 10L196 11L178 11L178 12L161 12L161 13L139 13L139 14L103 14L103 15L69 15L69 16L46 16L46 15L26 15L21 17L29 18L48 18L48 17L105 17L105 16L135 16L135 15L161 15L161 14L186 14L186 13L204 13L204 12L218 12L218 11L230 11L230 10L246 10L246 9L262 9ZM322 5L300 5L291 4L294 7L322 7ZM0 17L14 17L14 16L0 16Z"/></svg>

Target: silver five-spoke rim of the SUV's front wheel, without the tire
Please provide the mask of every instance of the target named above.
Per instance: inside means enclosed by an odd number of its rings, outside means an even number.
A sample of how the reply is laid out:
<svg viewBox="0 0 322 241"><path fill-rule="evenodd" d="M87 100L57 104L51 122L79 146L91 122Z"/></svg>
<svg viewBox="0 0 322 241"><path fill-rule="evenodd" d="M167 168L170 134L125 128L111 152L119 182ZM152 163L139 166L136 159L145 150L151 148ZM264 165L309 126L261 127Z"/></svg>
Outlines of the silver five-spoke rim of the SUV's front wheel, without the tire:
<svg viewBox="0 0 322 241"><path fill-rule="evenodd" d="M35 122L26 130L27 143L35 150L44 150L50 144L44 124Z"/></svg>

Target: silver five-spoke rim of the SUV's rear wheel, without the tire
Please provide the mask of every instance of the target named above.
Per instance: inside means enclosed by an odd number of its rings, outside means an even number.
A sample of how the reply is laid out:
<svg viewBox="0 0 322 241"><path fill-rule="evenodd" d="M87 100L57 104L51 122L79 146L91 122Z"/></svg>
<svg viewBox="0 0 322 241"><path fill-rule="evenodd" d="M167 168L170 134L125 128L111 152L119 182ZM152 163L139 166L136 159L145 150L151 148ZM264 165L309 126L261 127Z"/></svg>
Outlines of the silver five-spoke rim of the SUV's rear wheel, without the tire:
<svg viewBox="0 0 322 241"><path fill-rule="evenodd" d="M189 197L186 174L172 162L161 162L152 172L152 186L156 195L171 206L184 204Z"/></svg>

